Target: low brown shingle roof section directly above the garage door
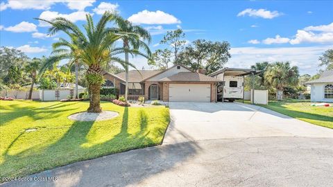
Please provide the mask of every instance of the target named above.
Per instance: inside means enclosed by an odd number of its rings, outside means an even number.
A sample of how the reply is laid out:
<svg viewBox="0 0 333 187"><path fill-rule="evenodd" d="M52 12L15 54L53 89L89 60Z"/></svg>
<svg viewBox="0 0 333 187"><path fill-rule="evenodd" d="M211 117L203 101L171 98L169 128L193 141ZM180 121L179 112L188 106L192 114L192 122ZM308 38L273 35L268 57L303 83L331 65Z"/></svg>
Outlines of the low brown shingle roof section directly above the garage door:
<svg viewBox="0 0 333 187"><path fill-rule="evenodd" d="M172 81L184 81L184 82L221 82L216 78L212 78L207 75L196 72L180 72L175 75L171 75L167 78L162 78L160 81L172 82Z"/></svg>

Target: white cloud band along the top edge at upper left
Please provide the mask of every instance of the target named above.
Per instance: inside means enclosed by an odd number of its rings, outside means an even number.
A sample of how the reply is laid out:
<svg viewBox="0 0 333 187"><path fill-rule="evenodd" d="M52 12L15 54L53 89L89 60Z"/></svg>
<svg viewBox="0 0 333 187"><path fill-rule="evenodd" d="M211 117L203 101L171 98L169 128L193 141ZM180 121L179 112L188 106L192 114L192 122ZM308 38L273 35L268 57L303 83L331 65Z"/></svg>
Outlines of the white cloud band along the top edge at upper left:
<svg viewBox="0 0 333 187"><path fill-rule="evenodd" d="M73 1L73 0L9 0L7 3L1 2L0 10L6 10L11 8L14 10L25 10L25 9L35 9L35 10L49 10L51 6L55 3L67 3L67 7L71 10L85 10L86 7L92 6L96 0L85 0L85 1Z"/></svg>

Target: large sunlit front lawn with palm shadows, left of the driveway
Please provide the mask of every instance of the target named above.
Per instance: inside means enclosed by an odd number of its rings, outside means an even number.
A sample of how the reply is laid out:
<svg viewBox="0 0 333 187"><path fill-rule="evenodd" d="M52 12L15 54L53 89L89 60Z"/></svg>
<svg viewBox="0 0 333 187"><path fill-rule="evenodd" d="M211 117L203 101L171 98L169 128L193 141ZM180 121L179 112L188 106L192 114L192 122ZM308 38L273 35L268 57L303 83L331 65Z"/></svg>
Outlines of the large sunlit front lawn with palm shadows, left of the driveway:
<svg viewBox="0 0 333 187"><path fill-rule="evenodd" d="M94 159L162 143L169 124L166 107L120 107L108 121L78 122L67 116L87 109L87 102L1 101L0 179ZM36 131L26 132L28 129Z"/></svg>

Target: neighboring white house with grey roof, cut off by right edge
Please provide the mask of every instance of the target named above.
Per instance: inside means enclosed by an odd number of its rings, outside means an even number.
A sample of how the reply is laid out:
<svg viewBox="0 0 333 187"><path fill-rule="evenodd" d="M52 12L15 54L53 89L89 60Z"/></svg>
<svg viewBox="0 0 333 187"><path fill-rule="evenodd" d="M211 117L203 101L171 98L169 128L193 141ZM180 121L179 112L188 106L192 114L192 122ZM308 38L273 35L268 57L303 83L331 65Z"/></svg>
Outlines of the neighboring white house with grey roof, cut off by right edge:
<svg viewBox="0 0 333 187"><path fill-rule="evenodd" d="M311 84L311 102L333 102L333 70L325 71L320 78L305 84Z"/></svg>

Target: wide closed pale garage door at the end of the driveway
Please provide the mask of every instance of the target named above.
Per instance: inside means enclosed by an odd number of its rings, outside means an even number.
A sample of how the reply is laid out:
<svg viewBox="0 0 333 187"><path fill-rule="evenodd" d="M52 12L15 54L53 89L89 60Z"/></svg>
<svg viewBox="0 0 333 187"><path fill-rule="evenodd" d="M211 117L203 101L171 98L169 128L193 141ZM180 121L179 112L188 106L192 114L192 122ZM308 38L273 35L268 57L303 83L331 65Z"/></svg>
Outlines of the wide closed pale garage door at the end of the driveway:
<svg viewBox="0 0 333 187"><path fill-rule="evenodd" d="M169 84L169 101L210 102L210 84Z"/></svg>

